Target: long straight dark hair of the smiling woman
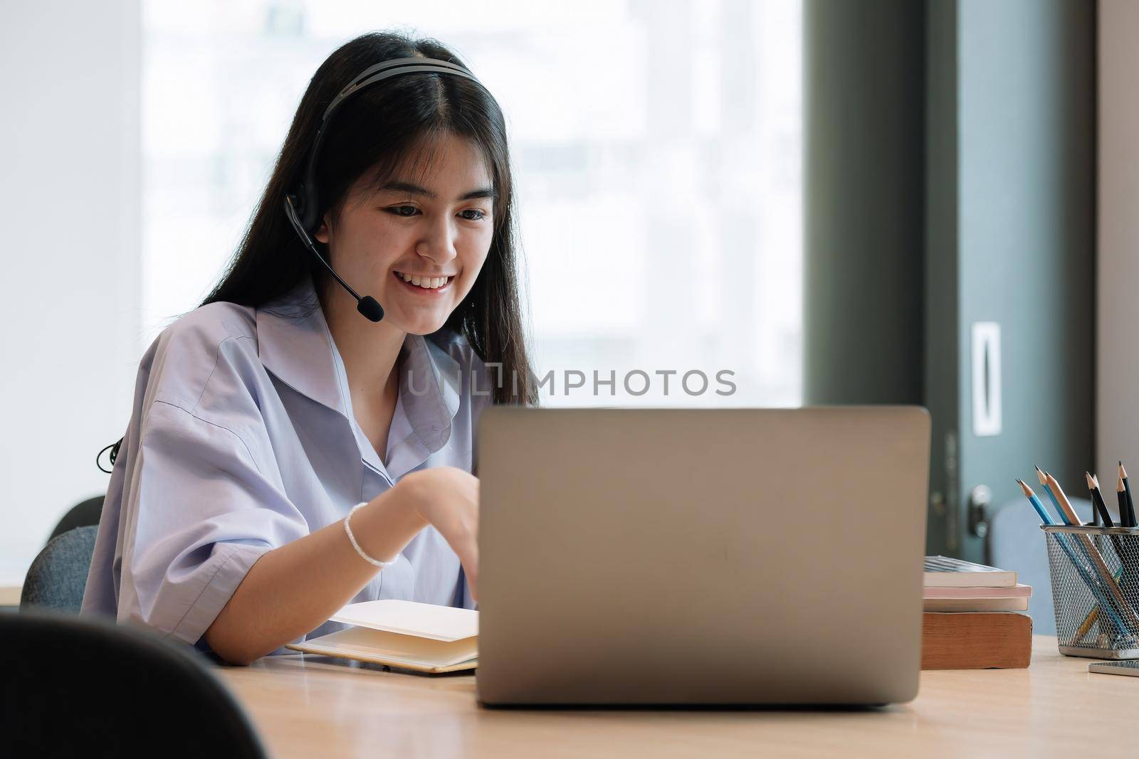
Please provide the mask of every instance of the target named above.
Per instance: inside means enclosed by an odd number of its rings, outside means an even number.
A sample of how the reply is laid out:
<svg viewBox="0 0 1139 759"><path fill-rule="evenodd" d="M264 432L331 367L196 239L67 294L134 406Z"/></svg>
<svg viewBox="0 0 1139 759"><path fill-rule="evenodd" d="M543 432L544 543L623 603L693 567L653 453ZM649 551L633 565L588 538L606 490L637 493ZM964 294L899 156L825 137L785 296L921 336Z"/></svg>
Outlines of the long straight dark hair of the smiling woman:
<svg viewBox="0 0 1139 759"><path fill-rule="evenodd" d="M226 274L203 300L262 306L296 287L305 275L319 288L327 273L304 247L284 212L285 193L302 178L321 115L334 97L364 68L393 58L423 56L467 68L458 56L431 39L377 32L339 47L309 82L264 195L254 211ZM469 71L469 69L468 69ZM379 187L400 158L424 138L450 132L472 140L483 152L498 197L494 233L486 262L470 292L446 325L467 338L484 362L502 366L494 403L533 404L534 387L526 350L516 272L517 230L506 123L483 88L461 76L396 76L353 94L337 109L317 165L320 215L338 215L352 185L369 174ZM317 242L327 256L323 244ZM495 372L497 373L497 372Z"/></svg>

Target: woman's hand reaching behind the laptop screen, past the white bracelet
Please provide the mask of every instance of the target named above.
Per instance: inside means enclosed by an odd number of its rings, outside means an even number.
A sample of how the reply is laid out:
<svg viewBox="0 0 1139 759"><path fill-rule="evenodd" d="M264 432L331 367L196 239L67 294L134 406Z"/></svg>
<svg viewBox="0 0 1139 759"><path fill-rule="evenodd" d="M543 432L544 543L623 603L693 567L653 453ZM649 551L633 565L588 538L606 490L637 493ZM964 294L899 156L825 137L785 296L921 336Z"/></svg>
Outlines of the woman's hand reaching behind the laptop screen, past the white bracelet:
<svg viewBox="0 0 1139 759"><path fill-rule="evenodd" d="M399 481L420 518L435 526L459 554L470 585L470 597L478 600L478 478L454 467L432 467L411 472Z"/></svg>

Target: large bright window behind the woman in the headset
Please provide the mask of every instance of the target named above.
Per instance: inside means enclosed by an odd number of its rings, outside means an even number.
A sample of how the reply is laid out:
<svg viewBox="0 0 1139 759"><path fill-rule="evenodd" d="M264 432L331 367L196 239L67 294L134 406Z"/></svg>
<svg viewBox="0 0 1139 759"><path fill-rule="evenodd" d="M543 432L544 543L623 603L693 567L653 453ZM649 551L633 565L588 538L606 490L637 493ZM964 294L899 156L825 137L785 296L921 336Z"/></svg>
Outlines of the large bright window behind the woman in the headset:
<svg viewBox="0 0 1139 759"><path fill-rule="evenodd" d="M795 405L801 13L798 0L150 0L145 338L232 254L320 61L402 28L456 49L507 114L535 369L554 372L544 405ZM716 393L723 371L730 395ZM595 394L593 372L615 382ZM708 387L690 395L687 372Z"/></svg>

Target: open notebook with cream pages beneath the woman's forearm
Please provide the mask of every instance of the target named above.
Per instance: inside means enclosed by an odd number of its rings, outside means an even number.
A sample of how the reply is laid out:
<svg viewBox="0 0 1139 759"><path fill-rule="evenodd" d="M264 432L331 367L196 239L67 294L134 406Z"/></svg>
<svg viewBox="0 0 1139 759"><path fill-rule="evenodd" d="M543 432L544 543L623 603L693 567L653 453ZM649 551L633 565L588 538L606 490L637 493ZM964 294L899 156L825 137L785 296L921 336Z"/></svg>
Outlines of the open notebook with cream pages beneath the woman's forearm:
<svg viewBox="0 0 1139 759"><path fill-rule="evenodd" d="M424 673L478 666L478 612L472 609L386 599L350 603L329 621L353 627L286 647Z"/></svg>

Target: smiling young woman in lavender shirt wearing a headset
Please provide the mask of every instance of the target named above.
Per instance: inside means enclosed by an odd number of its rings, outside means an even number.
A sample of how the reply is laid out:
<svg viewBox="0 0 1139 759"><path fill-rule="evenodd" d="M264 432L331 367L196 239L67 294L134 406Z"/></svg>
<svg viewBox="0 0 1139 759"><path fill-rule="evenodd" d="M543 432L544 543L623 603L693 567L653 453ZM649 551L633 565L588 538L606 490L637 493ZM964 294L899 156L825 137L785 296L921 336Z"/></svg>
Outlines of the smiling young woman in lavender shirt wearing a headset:
<svg viewBox="0 0 1139 759"><path fill-rule="evenodd" d="M407 58L436 63L378 66ZM535 394L503 118L464 72L394 34L317 71L228 273L142 358L84 612L241 663L352 601L474 608L477 419Z"/></svg>

